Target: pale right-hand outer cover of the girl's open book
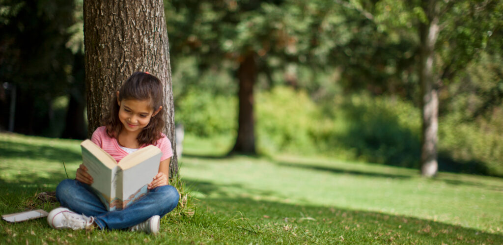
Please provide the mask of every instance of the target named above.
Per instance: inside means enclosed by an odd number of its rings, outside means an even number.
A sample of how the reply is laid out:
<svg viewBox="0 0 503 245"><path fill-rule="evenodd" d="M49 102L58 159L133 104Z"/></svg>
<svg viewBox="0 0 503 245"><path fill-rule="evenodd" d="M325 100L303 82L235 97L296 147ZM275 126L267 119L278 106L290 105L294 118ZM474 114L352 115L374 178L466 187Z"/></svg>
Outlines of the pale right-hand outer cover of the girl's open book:
<svg viewBox="0 0 503 245"><path fill-rule="evenodd" d="M129 196L135 194L143 186L152 182L152 179L155 177L155 175L159 173L161 155L162 152L159 150L159 148L157 148L157 153L150 154L148 158L144 159L135 166L122 170L123 182L121 199L127 199ZM146 190L146 188L144 189Z"/></svg>

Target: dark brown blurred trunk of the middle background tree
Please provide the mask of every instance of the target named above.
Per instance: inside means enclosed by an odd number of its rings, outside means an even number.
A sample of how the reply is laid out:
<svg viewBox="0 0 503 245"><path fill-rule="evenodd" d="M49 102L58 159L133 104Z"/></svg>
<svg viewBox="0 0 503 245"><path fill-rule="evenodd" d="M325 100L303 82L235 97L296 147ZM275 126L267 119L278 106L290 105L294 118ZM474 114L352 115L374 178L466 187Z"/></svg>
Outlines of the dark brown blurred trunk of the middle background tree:
<svg viewBox="0 0 503 245"><path fill-rule="evenodd" d="M256 154L255 120L254 120L254 85L257 80L257 63L255 52L243 57L237 70L239 79L239 112L236 143L230 153Z"/></svg>

